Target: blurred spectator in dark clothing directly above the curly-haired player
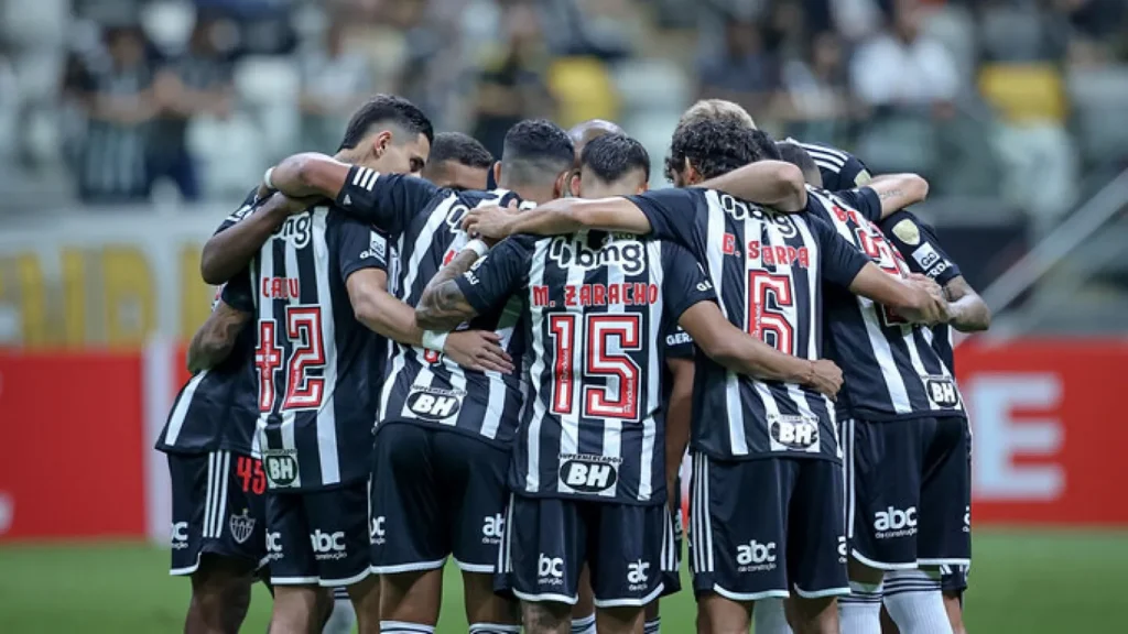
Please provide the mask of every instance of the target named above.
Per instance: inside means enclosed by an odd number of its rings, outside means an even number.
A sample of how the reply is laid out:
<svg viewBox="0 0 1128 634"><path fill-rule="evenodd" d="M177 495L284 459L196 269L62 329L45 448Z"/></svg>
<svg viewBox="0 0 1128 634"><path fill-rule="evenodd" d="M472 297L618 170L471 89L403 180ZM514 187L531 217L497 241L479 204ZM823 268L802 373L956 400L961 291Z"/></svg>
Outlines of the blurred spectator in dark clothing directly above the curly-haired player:
<svg viewBox="0 0 1128 634"><path fill-rule="evenodd" d="M779 87L779 61L750 20L728 20L724 49L699 64L700 97L735 102L759 118Z"/></svg>

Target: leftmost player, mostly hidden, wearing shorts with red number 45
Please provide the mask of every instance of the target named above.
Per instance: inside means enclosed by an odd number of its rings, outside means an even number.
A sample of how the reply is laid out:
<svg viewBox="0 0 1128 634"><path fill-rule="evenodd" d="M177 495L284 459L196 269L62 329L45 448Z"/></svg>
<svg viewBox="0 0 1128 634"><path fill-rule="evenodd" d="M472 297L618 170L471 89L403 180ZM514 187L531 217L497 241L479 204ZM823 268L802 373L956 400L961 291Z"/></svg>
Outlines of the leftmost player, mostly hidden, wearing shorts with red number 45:
<svg viewBox="0 0 1128 634"><path fill-rule="evenodd" d="M190 634L238 632L266 556L266 478L254 439L255 331L245 322L217 294L188 346L193 377L157 440L173 484L169 572L192 579Z"/></svg>

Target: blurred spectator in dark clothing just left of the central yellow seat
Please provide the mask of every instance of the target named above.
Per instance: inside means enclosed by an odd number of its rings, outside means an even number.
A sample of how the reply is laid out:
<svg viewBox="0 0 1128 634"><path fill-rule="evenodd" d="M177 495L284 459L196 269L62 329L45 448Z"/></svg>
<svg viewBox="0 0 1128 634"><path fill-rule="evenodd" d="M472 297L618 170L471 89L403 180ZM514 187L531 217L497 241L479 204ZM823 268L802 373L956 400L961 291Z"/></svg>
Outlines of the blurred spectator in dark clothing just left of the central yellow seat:
<svg viewBox="0 0 1128 634"><path fill-rule="evenodd" d="M474 138L500 157L505 132L522 118L549 116L553 99L545 85L547 64L540 19L520 0L504 3L508 41L483 67L475 95Z"/></svg>

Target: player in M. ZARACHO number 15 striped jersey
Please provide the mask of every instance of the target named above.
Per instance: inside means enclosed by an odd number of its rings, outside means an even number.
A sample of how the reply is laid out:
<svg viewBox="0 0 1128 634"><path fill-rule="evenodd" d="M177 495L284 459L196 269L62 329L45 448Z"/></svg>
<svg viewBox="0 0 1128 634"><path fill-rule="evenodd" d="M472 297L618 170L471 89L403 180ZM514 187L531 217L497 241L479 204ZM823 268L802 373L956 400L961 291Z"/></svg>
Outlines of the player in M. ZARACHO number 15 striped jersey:
<svg viewBox="0 0 1128 634"><path fill-rule="evenodd" d="M602 164L618 180L636 155L636 141L597 139L584 150L584 176L590 164ZM474 259L460 255L440 272L416 317L450 328L513 297L522 302L534 393L510 468L502 558L526 631L567 632L587 563L599 632L635 632L676 562L666 508L664 334L680 323L733 371L808 377L825 394L834 394L836 372L729 324L704 271L681 247L583 231L510 238L467 271Z"/></svg>

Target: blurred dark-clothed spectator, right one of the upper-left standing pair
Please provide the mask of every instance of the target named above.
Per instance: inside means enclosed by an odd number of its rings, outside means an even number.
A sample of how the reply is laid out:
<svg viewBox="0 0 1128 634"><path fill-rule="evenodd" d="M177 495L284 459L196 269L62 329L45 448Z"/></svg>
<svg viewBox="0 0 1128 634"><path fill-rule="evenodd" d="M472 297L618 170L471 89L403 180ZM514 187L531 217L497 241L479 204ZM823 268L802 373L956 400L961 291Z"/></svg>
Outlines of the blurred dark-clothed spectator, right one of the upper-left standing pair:
<svg viewBox="0 0 1128 634"><path fill-rule="evenodd" d="M160 114L149 149L149 178L169 178L186 200L200 197L197 166L187 129L197 116L227 117L231 112L230 65L215 45L218 20L200 19L187 51L161 69L153 82Z"/></svg>

